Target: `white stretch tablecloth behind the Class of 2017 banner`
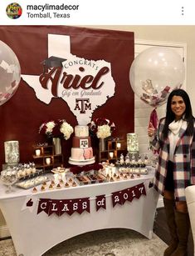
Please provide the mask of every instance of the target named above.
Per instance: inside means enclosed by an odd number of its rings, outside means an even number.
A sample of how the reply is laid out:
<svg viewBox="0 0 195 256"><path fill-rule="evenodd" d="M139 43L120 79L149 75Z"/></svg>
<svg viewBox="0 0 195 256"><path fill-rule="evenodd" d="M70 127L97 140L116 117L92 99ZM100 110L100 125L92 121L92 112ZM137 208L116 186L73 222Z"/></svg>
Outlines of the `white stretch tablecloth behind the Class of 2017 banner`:
<svg viewBox="0 0 195 256"><path fill-rule="evenodd" d="M40 256L57 243L86 233L104 228L130 228L152 238L158 193L149 188L154 178L152 171L139 178L110 183L88 184L75 188L61 188L32 193L32 188L15 188L12 193L5 193L6 187L0 182L0 208L7 222L17 255ZM144 183L146 195L123 205L113 207L111 193ZM95 197L105 194L106 208L96 211ZM39 198L70 199L90 197L90 213L75 212L71 216L56 214L48 216L45 212L37 214ZM27 208L27 201L34 202Z"/></svg>

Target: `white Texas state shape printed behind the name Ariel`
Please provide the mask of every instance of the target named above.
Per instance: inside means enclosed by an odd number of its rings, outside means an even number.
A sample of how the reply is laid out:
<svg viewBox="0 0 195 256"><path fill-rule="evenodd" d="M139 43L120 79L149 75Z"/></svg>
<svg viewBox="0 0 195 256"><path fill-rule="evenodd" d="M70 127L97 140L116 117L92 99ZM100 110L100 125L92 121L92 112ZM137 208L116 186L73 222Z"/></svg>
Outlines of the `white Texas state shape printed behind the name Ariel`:
<svg viewBox="0 0 195 256"><path fill-rule="evenodd" d="M71 54L71 41L70 37L66 35L56 35L48 34L48 58L50 56L55 56L59 58L65 58L69 63L76 63L76 61L85 63L82 65L85 69L90 70L90 75L95 77L97 70L103 67L108 67L110 72L104 76L104 86L100 89L64 89L63 87L58 87L58 98L62 98L71 109L71 112L76 116L77 122L79 124L86 124L90 122L92 113L96 108L100 108L106 101L113 97L115 94L115 81L111 76L111 66L110 63L105 62L105 60L86 60L84 58L76 57L76 55ZM66 63L66 62L64 62ZM86 64L90 63L90 65ZM62 63L63 64L63 63ZM78 73L79 65L72 65L68 67L68 72L71 74ZM51 98L54 96L51 93L51 83L47 84L47 88L42 88L39 82L39 75L24 75L22 78L27 84L32 87L36 93L36 96L43 103L51 103ZM60 80L60 79L59 79ZM100 82L101 83L101 82ZM85 113L80 113L76 109L76 98L90 98L90 109L85 109Z"/></svg>

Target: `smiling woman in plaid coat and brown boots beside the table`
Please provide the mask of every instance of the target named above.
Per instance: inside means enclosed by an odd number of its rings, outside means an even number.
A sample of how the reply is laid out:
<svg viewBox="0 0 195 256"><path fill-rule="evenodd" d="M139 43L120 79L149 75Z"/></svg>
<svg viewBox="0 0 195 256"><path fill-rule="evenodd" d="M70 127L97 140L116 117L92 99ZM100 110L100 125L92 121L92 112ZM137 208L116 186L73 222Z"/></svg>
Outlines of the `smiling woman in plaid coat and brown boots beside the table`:
<svg viewBox="0 0 195 256"><path fill-rule="evenodd" d="M188 93L175 89L168 96L166 117L148 134L151 145L159 149L154 188L163 195L171 234L164 256L187 255L190 222L185 188L195 184L195 123Z"/></svg>

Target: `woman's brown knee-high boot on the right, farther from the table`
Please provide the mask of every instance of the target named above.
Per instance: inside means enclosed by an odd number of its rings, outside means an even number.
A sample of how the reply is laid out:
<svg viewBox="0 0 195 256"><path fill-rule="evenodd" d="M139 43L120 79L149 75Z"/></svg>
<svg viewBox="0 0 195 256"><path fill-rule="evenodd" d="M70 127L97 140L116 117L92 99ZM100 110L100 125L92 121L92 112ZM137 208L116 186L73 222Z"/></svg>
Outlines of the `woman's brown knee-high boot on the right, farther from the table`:
<svg viewBox="0 0 195 256"><path fill-rule="evenodd" d="M188 234L190 228L190 220L188 213L175 211L175 222L178 233L178 247L171 256L186 256L188 249Z"/></svg>

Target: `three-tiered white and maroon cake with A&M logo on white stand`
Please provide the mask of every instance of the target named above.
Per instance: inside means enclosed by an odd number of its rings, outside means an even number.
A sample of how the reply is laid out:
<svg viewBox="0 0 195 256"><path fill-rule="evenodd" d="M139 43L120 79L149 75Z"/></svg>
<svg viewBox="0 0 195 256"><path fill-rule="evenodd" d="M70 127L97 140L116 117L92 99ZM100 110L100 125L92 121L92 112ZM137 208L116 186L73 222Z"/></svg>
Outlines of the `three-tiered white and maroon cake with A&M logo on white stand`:
<svg viewBox="0 0 195 256"><path fill-rule="evenodd" d="M69 158L69 163L76 165L95 163L88 126L76 125L75 136L72 139L71 157Z"/></svg>

